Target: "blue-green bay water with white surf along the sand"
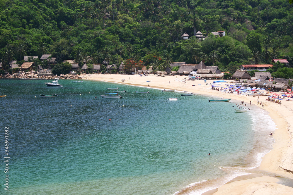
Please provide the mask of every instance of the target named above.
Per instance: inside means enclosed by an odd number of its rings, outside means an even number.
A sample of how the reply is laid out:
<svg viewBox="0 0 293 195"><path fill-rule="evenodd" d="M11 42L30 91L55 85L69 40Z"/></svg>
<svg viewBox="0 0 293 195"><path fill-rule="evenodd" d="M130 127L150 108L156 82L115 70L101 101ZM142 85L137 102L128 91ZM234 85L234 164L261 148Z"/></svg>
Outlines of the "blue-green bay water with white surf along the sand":
<svg viewBox="0 0 293 195"><path fill-rule="evenodd" d="M10 194L201 194L257 167L273 143L268 113L252 106L236 113L236 101L110 82L44 82L0 80ZM112 92L106 87L126 92L100 98Z"/></svg>

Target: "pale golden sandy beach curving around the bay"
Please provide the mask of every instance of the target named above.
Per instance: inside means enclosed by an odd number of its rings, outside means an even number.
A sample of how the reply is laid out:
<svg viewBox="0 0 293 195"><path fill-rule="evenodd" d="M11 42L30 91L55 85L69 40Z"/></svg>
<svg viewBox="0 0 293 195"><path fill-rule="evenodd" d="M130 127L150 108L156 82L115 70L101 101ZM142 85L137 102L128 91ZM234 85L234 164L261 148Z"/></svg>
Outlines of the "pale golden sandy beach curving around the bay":
<svg viewBox="0 0 293 195"><path fill-rule="evenodd" d="M224 184L218 189L214 189L204 193L208 194L293 194L293 188L282 185L277 177L286 177L293 179L293 129L290 122L293 121L293 101L282 100L281 104L267 101L267 96L242 96L237 94L223 93L220 91L208 89L211 86L205 85L204 80L180 82L176 79L183 79L184 76L165 76L157 75L139 76L139 75L119 75L119 74L96 74L83 75L82 79L100 80L108 82L118 82L121 84L130 84L135 86L144 86L159 89L176 89L180 91L192 92L207 96L217 96L224 99L235 99L245 101L246 105L252 104L259 106L269 112L270 117L276 123L277 129L273 133L275 143L273 149L263 158L260 166L255 169L256 174L248 177L236 177L230 182ZM121 80L125 79L124 82ZM213 83L214 80L207 80L207 83ZM233 81L231 81L233 82ZM219 86L226 86L225 84ZM279 93L280 94L280 93ZM259 105L257 101L262 102ZM270 134L270 132L268 132ZM262 173L267 173L262 176ZM260 174L261 173L261 174ZM186 194L180 192L180 194Z"/></svg>

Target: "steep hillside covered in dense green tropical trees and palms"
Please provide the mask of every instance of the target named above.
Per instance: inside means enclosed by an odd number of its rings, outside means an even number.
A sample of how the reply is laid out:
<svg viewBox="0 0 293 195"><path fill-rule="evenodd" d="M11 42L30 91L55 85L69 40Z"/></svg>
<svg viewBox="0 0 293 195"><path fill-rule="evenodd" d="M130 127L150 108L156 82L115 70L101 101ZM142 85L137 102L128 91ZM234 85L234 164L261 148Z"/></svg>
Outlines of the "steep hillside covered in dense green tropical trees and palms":
<svg viewBox="0 0 293 195"><path fill-rule="evenodd" d="M171 61L204 60L231 73L240 64L270 64L272 59L293 65L288 0L1 0L0 10L4 66L42 54L59 62L107 58L117 65L133 58L159 69ZM226 36L211 33L218 30ZM197 31L207 38L196 39ZM189 40L181 38L184 32Z"/></svg>

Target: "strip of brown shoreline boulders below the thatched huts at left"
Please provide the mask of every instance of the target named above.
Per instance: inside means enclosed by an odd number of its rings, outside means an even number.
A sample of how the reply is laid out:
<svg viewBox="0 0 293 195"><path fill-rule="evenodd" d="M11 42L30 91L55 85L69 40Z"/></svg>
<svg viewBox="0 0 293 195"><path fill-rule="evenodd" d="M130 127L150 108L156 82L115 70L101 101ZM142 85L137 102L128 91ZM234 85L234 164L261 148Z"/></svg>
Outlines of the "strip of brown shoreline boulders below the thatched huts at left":
<svg viewBox="0 0 293 195"><path fill-rule="evenodd" d="M81 74L84 75L84 74ZM81 75L72 75L72 74L66 74L66 75L60 75L60 76L54 76L54 75L46 75L42 76L39 74L39 72L35 73L32 72L25 72L25 73L13 73L13 74L6 74L6 75L0 75L0 78L2 79L81 79Z"/></svg>

